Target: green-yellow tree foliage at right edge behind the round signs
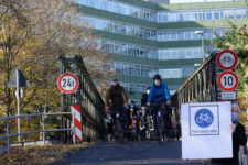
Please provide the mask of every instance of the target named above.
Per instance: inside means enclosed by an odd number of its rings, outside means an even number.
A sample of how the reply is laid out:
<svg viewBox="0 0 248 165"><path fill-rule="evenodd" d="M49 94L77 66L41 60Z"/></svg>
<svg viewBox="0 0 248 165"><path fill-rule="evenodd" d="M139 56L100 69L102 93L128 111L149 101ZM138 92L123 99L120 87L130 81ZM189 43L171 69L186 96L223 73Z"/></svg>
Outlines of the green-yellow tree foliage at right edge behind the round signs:
<svg viewBox="0 0 248 165"><path fill-rule="evenodd" d="M225 32L225 36L216 35L212 44L219 50L233 50L237 53L238 64L236 72L239 79L237 88L237 101L240 105L240 120L247 122L246 109L248 108L248 23L236 26L229 22L231 30Z"/></svg>

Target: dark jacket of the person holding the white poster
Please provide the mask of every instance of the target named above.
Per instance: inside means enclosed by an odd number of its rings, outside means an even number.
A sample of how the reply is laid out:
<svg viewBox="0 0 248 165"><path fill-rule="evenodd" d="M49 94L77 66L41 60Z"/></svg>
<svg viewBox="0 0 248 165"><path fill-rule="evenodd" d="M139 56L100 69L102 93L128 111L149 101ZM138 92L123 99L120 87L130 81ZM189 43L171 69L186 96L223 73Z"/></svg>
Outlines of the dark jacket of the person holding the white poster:
<svg viewBox="0 0 248 165"><path fill-rule="evenodd" d="M233 158L213 158L212 163L218 163L223 165L239 165L238 151L240 145L246 146L247 136L245 127L241 123L237 123L235 132L233 133Z"/></svg>

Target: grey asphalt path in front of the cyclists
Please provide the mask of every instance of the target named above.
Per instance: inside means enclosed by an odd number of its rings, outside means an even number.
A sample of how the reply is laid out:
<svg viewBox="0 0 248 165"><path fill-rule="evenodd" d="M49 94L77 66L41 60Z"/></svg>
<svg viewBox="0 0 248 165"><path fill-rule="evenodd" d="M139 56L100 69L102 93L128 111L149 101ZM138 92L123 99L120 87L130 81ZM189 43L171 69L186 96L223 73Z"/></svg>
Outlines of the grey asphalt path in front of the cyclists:
<svg viewBox="0 0 248 165"><path fill-rule="evenodd" d="M51 165L209 165L208 161L182 161L181 142L96 143Z"/></svg>

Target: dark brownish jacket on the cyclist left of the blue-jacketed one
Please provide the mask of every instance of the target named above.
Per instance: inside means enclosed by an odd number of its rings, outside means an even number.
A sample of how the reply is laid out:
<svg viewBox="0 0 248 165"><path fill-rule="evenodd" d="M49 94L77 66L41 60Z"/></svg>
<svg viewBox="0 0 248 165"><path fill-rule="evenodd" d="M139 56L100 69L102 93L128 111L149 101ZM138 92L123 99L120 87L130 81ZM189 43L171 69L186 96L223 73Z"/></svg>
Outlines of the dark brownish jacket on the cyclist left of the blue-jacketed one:
<svg viewBox="0 0 248 165"><path fill-rule="evenodd" d="M105 95L105 103L109 105L111 100L112 106L123 106L128 103L128 95L125 91L125 88L120 85L110 86Z"/></svg>

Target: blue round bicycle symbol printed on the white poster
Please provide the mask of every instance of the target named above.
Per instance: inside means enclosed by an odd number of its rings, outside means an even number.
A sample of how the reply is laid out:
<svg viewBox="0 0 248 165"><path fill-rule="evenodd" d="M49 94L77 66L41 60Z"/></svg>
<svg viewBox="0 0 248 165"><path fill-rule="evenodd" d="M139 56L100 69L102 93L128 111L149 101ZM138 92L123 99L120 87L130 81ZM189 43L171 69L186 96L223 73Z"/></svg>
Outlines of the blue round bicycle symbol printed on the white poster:
<svg viewBox="0 0 248 165"><path fill-rule="evenodd" d="M201 128L209 127L214 121L214 116L208 109L200 109L195 113L195 123Z"/></svg>

